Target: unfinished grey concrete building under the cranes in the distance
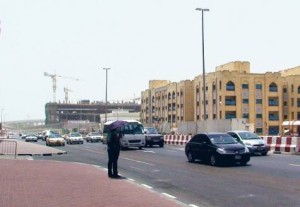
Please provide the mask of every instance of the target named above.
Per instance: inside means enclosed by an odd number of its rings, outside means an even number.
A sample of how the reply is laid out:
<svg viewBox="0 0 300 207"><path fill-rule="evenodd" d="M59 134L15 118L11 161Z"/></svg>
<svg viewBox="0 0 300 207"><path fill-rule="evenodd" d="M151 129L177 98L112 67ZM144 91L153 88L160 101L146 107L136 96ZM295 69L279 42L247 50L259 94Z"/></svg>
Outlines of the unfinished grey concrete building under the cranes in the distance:
<svg viewBox="0 0 300 207"><path fill-rule="evenodd" d="M67 121L89 121L100 123L100 114L111 113L113 110L124 109L129 112L140 112L141 105L136 102L90 102L82 100L73 103L47 103L45 105L45 124L63 123Z"/></svg>

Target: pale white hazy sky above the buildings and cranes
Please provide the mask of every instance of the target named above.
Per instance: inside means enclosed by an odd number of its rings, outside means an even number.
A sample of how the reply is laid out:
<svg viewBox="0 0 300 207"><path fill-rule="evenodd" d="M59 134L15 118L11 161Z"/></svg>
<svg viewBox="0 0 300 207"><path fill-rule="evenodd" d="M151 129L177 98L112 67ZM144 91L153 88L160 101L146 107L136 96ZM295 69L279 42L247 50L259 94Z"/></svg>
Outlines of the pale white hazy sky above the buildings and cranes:
<svg viewBox="0 0 300 207"><path fill-rule="evenodd" d="M178 82L205 68L250 61L251 72L300 65L299 0L0 0L3 121L44 119L53 100L44 72L77 102L140 96L149 80Z"/></svg>

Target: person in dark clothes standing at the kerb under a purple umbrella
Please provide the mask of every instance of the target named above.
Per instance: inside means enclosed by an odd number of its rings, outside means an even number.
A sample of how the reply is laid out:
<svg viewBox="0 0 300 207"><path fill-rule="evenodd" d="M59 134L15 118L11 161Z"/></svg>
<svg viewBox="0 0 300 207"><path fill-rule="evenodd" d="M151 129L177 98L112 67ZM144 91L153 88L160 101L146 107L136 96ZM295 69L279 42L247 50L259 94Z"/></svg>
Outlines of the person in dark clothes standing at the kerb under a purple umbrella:
<svg viewBox="0 0 300 207"><path fill-rule="evenodd" d="M120 178L118 174L118 159L121 149L121 128L127 124L125 121L115 121L108 126L109 133L107 135L107 152L108 152L108 177Z"/></svg>

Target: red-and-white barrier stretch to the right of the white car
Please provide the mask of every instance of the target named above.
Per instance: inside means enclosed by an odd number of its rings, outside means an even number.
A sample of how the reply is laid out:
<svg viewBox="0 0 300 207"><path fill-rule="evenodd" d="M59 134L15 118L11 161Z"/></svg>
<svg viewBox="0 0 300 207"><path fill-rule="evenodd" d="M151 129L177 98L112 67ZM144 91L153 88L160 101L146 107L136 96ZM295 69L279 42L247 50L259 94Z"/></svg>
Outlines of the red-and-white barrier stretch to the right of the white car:
<svg viewBox="0 0 300 207"><path fill-rule="evenodd" d="M271 152L300 154L300 137L265 136L262 139L270 147Z"/></svg>

